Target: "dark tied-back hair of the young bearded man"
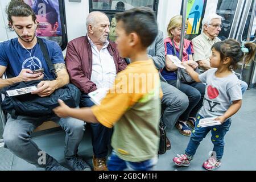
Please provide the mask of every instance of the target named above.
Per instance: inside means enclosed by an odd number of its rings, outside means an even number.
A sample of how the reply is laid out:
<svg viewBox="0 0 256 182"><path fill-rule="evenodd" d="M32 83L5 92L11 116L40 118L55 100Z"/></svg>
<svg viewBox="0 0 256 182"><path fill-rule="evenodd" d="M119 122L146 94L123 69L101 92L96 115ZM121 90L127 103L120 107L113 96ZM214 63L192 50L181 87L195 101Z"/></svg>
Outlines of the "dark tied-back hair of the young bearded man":
<svg viewBox="0 0 256 182"><path fill-rule="evenodd" d="M30 6L28 6L22 0L11 1L6 8L6 14L11 24L13 24L13 20L11 19L11 16L19 16L19 17L32 16L32 20L34 22L36 21L36 15L34 11L31 9ZM10 30L12 30L11 24L10 23L8 24L8 27L10 28Z"/></svg>

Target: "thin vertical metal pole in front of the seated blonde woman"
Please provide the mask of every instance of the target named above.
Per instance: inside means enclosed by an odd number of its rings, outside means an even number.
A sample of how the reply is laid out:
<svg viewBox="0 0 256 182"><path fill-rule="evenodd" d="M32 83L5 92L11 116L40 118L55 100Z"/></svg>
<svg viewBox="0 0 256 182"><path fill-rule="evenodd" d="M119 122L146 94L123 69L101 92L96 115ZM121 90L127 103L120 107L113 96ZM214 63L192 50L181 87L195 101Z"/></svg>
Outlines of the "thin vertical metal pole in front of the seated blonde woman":
<svg viewBox="0 0 256 182"><path fill-rule="evenodd" d="M185 26L186 26L186 16L187 16L187 0L183 0L182 8L182 26L181 26L181 39L180 39L180 60L183 59L183 48L184 48L184 36L185 36ZM181 78L181 68L177 71L177 89L180 89L180 78Z"/></svg>

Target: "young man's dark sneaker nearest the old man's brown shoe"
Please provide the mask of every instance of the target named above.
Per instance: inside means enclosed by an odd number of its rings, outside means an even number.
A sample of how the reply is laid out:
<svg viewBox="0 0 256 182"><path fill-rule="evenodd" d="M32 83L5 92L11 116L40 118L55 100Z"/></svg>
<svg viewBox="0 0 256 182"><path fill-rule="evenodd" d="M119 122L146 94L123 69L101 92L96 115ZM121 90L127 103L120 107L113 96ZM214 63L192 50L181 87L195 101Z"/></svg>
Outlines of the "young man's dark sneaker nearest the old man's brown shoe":
<svg viewBox="0 0 256 182"><path fill-rule="evenodd" d="M70 158L66 159L66 162L73 171L92 171L90 166L82 160L82 158Z"/></svg>

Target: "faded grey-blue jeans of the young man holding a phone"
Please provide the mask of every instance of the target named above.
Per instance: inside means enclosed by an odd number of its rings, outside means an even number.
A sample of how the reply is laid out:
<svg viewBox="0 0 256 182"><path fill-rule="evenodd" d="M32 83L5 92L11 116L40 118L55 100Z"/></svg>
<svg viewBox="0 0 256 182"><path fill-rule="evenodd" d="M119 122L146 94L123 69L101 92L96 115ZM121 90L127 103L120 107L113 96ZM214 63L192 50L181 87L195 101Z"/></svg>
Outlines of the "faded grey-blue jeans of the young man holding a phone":
<svg viewBox="0 0 256 182"><path fill-rule="evenodd" d="M3 140L5 147L14 155L26 160L28 163L34 164L36 167L46 167L52 162L53 158L46 154L46 163L39 164L39 154L42 150L38 148L31 139L31 133L36 127L42 125L44 121L55 121L66 132L65 137L65 158L73 158L78 152L79 144L84 136L85 123L74 118L33 118L26 116L18 116L17 119L7 115L5 130L3 131Z"/></svg>

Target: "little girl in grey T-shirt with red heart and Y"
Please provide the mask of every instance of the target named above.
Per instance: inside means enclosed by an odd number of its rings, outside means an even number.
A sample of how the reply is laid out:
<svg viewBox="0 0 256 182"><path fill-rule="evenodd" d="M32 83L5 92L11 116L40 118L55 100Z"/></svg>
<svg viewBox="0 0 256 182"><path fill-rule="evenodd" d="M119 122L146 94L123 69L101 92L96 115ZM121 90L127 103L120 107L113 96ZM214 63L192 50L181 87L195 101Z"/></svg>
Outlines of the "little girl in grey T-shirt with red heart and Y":
<svg viewBox="0 0 256 182"><path fill-rule="evenodd" d="M226 39L217 42L212 47L210 66L207 72L199 75L188 64L183 63L187 72L196 82L204 82L207 85L204 96L204 104L197 114L195 130L185 150L185 154L177 155L174 163L177 166L190 165L190 161L196 153L201 140L211 132L213 151L210 158L203 163L207 170L213 170L221 166L224 154L224 137L229 131L232 115L236 114L242 106L242 92L240 80L232 72L237 63L245 58L246 63L254 59L256 46L254 43L246 43L241 46L234 39ZM199 127L199 120L203 118L216 118L221 125Z"/></svg>

